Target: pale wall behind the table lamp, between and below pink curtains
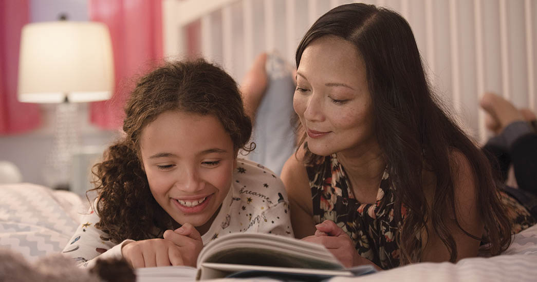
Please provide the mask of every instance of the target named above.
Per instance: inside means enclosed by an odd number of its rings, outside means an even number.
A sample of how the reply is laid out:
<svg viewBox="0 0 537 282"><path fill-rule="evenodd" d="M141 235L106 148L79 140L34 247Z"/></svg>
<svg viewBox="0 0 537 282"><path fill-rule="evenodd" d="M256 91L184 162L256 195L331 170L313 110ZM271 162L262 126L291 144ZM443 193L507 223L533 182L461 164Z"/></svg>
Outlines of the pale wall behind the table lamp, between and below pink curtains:
<svg viewBox="0 0 537 282"><path fill-rule="evenodd" d="M30 0L30 21L56 20L66 13L69 20L89 20L87 0ZM100 130L89 123L88 104L78 106L77 123L81 130L81 146L102 151L117 135ZM13 162L23 175L24 182L48 185L43 177L50 150L53 147L55 105L41 105L42 126L20 135L0 136L0 160Z"/></svg>

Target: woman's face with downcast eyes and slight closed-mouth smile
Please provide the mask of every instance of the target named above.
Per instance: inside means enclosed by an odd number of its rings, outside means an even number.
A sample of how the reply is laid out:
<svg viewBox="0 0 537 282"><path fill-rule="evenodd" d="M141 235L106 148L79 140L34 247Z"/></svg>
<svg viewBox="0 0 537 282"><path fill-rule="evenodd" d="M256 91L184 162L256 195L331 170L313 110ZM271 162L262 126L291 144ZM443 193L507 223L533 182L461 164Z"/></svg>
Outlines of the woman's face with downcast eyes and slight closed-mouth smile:
<svg viewBox="0 0 537 282"><path fill-rule="evenodd" d="M293 107L318 155L376 143L365 63L357 48L335 36L311 42L296 73Z"/></svg>

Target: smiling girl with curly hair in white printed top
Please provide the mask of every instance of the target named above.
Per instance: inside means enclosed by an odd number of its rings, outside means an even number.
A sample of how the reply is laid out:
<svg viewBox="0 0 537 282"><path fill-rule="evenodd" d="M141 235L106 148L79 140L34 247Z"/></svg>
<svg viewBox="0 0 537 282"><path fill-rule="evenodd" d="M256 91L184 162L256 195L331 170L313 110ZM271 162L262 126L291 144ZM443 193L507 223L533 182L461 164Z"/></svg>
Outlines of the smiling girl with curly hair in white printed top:
<svg viewBox="0 0 537 282"><path fill-rule="evenodd" d="M203 60L166 64L139 80L125 112L126 136L95 166L98 197L63 253L83 266L111 257L195 266L218 236L293 235L281 180L237 158L255 145L226 72Z"/></svg>

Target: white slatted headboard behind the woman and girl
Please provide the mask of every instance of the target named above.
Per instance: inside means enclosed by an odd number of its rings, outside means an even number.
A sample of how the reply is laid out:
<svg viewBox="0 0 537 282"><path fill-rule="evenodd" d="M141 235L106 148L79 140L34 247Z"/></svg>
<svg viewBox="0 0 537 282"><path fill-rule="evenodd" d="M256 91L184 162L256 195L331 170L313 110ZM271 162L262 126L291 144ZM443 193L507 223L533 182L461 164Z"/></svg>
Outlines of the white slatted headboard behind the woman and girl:
<svg viewBox="0 0 537 282"><path fill-rule="evenodd" d="M485 91L537 109L536 0L163 0L164 53L199 53L240 81L261 51L294 63L307 28L350 2L384 6L409 21L431 84L471 136L487 137L478 108Z"/></svg>

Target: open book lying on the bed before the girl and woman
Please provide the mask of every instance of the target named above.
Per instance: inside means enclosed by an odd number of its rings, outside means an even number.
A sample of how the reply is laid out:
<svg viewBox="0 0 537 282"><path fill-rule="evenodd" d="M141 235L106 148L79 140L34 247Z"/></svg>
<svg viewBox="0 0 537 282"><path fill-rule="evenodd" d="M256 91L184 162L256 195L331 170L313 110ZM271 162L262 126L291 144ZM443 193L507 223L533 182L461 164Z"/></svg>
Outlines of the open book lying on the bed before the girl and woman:
<svg viewBox="0 0 537 282"><path fill-rule="evenodd" d="M189 266L137 269L137 281L262 276L315 281L375 272L371 265L345 269L319 244L260 233L232 233L210 242L201 250L197 265L197 269Z"/></svg>

